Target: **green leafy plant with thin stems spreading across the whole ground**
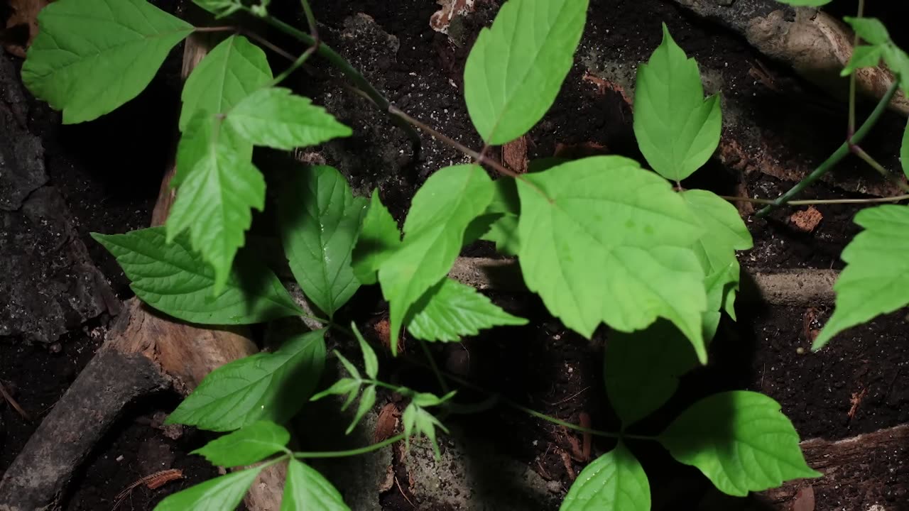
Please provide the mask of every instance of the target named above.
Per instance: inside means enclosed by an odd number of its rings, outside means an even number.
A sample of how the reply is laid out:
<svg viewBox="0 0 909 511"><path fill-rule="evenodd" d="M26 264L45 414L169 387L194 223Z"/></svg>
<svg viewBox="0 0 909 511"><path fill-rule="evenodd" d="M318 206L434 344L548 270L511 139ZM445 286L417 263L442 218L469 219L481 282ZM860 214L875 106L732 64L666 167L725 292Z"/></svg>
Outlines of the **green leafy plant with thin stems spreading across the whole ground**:
<svg viewBox="0 0 909 511"><path fill-rule="evenodd" d="M674 394L679 376L706 362L720 316L734 319L740 274L735 253L752 246L727 197L682 186L714 154L722 106L718 95L704 98L696 63L665 26L663 43L640 67L634 100L634 134L652 170L610 155L517 175L484 157L483 150L465 147L391 105L343 57L320 43L305 0L309 33L270 15L267 1L195 3L217 16L262 18L309 49L275 76L264 50L234 27L188 25L145 0L58 0L40 15L41 32L23 67L30 90L62 110L65 123L79 123L139 94L185 36L234 33L186 81L173 181L177 195L166 225L95 235L149 306L203 325L263 323L303 314L277 276L239 249L245 245L251 209L265 207L265 178L252 162L253 148L291 150L351 135L325 109L278 86L311 55L341 69L395 123L420 127L474 162L431 175L413 199L403 232L377 192L355 197L335 168L311 166L289 173L278 194L277 230L295 280L319 311L313 319L325 328L288 336L273 353L216 369L177 407L171 423L231 432L197 454L220 466L265 463L169 496L156 509L233 508L263 467L275 463L288 464L282 509L348 509L337 490L302 460L355 456L402 439L409 445L414 435L428 438L438 456L436 428L446 431L439 417L452 404L454 391L440 397L385 383L373 349L355 325L338 326L335 313L360 286L378 284L389 303L393 353L405 329L421 343L457 342L484 328L525 324L526 319L447 277L462 247L475 239L517 255L526 286L568 328L587 337L601 324L612 329L604 384L622 419L619 431L567 424L513 404L534 416L617 440L613 450L577 478L563 511L650 508L647 476L627 446L630 439L659 442L676 460L696 466L714 486L734 496L819 476L805 464L798 435L780 406L754 392L705 397L662 434L634 433L635 423ZM587 6L587 0L509 0L494 24L480 33L464 68L464 99L484 145L503 145L524 135L553 104L574 63ZM92 23L74 25L68 22L72 16L90 16ZM883 58L901 83L909 80L905 55L882 25L861 16L849 21L871 45L856 51L846 73ZM255 40L263 41L260 36ZM894 93L895 88L882 105ZM875 112L869 123L879 115ZM863 125L851 134L846 152L855 152L866 131ZM483 165L496 171L497 178ZM789 198L784 195L773 204L784 205ZM844 252L850 265L837 284L837 311L815 346L847 326L909 302L909 282L898 280L909 275L909 264L894 243L909 232L904 228L909 209L880 206L864 211L857 221L867 230ZM887 264L881 264L883 259ZM906 272L896 271L904 267ZM897 280L900 286L894 285ZM868 295L876 299L868 300ZM357 339L365 376L335 352L348 376L314 396L325 366L327 329ZM445 388L445 378L439 377ZM347 396L346 407L359 396L350 433L375 404L379 387L409 399L403 434L341 452L287 448L290 434L280 425L307 399Z"/></svg>

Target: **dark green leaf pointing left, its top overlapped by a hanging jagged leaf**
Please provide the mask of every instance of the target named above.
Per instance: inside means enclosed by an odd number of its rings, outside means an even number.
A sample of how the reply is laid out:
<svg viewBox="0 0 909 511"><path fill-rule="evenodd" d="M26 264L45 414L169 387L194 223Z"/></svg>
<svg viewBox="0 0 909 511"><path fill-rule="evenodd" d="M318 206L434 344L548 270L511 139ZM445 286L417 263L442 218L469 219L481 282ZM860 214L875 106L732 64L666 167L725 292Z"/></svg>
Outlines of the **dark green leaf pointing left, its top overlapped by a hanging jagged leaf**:
<svg viewBox="0 0 909 511"><path fill-rule="evenodd" d="M202 325L262 323L302 311L267 266L241 253L214 296L215 274L185 236L166 243L165 227L92 237L116 257L143 302L167 315Z"/></svg>

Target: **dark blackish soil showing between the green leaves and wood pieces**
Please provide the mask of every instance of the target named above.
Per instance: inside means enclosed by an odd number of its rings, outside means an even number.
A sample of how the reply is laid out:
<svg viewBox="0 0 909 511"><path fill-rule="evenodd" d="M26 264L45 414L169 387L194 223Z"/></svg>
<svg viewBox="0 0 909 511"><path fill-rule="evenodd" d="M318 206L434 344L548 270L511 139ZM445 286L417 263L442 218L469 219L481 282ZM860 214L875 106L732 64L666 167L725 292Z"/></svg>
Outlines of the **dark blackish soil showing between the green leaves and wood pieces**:
<svg viewBox="0 0 909 511"><path fill-rule="evenodd" d="M734 102L754 119L753 129L773 143L775 159L793 165L816 165L842 140L844 105L820 95L789 70L756 54L739 37L692 17L673 2L599 0L592 4L577 65L552 111L529 135L530 157L554 155L557 147L564 145L575 151L581 147L583 152L640 158L631 128L631 109L622 94L601 91L584 76L588 71L603 71L604 66L635 66L645 60L659 44L661 22L669 26L675 40L702 69L713 69L722 76L724 102ZM293 19L293 7L282 7ZM497 2L478 0L474 14L453 25L451 36L429 27L429 18L438 5L426 0L316 1L314 8L326 41L363 69L395 105L465 145L482 145L466 115L461 76L471 42L479 28L493 18ZM837 4L836 8L841 7ZM360 14L371 19L358 17ZM296 22L304 25L299 18ZM295 49L279 36L275 40ZM128 283L113 258L88 233L118 233L148 225L161 175L173 150L179 55L179 51L171 55L143 95L93 123L60 126L58 115L43 105L30 105L29 128L44 142L50 184L65 196L95 265L120 298L131 295ZM754 79L750 72L755 63L774 74L778 90ZM275 60L275 65L282 64ZM319 153L348 175L357 193L365 195L378 187L399 220L404 218L415 189L428 175L441 166L465 161L463 155L426 136L422 150L415 153L398 128L345 90L335 71L317 63L315 66L315 76L299 75L295 86L355 130L353 137L329 143ZM904 119L885 115L875 130L879 136L866 147L893 168L898 167L896 134L901 133L903 125ZM850 160L837 172L863 175L866 171ZM685 185L736 195L740 182L760 196L775 196L793 184L761 172L743 175L713 162ZM829 184L815 185L805 194L806 198L822 196L858 195ZM858 231L851 222L857 209L818 209L824 219L810 234L790 225L792 210L778 212L769 220L747 218L755 246L741 256L743 266L841 268L838 255ZM488 252L488 246L475 245L466 253ZM378 298L375 290L365 290L348 309L380 314ZM437 350L439 363L545 414L574 423L587 415L593 427L617 426L606 406L602 385L604 336L589 341L565 331L534 298L496 299L534 318L534 324L511 329L507 335L494 331L466 340L462 346L445 346ZM838 439L909 422L909 346L905 343L909 329L904 313L851 330L819 353L801 354L800 348L810 346L812 330L823 325L831 312L821 305L740 305L738 323L724 322L721 326L710 364L686 376L678 395L644 421L641 430L658 432L674 413L697 398L733 388L760 390L774 397L803 438ZM0 471L9 466L37 421L100 346L108 320L97 318L48 346L26 345L16 337L0 339L0 382L13 390L18 403L34 416L33 421L26 421L0 402L5 424L5 434L0 436ZM406 363L387 364L405 383L435 390L423 369ZM465 392L460 397L469 401L471 396ZM165 468L182 469L185 479L154 491L136 488L124 504L127 509L151 509L164 496L215 476L213 467L187 455L201 442L198 435L187 431L173 440L155 427L160 420L156 414L172 406L173 397L156 396L128 410L120 426L80 470L66 508L109 509L115 496L139 477ZM503 407L464 420L462 426L471 435L493 438L503 452L563 488L571 485L585 465L576 456L580 436ZM609 448L609 441L594 439L593 456ZM664 453L649 446L635 444L633 448L640 452L654 481L654 509L694 508L707 495L708 486L693 469L670 463ZM400 472L401 466L395 469ZM404 474L399 477L404 482L402 491L409 492ZM413 495L405 496L402 491L393 488L376 498L387 510L414 509ZM854 502L818 496L816 509L834 509L834 502L837 509L859 509L865 504L861 496Z"/></svg>

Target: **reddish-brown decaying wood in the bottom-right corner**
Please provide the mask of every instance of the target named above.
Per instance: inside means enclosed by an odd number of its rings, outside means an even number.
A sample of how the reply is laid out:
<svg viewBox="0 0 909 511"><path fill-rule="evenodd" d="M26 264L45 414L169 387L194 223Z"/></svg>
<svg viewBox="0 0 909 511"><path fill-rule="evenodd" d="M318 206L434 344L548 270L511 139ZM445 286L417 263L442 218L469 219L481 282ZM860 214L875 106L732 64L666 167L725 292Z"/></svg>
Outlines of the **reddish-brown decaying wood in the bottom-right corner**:
<svg viewBox="0 0 909 511"><path fill-rule="evenodd" d="M902 509L909 496L909 425L896 426L835 442L806 440L802 452L809 466L824 473L765 491L761 498L774 509L789 510L800 490L811 486L818 503L862 502L854 509ZM848 493L849 495L844 495ZM858 497L856 500L854 497Z"/></svg>

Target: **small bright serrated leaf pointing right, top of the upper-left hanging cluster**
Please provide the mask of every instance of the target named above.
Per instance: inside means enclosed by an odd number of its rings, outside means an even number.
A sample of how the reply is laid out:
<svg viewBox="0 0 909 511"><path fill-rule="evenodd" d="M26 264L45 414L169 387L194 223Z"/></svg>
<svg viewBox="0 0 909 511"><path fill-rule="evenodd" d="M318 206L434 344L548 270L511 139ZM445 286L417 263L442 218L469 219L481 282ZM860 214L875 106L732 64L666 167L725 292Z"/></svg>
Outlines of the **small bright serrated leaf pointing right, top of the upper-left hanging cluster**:
<svg viewBox="0 0 909 511"><path fill-rule="evenodd" d="M293 95L290 89L259 89L227 112L225 124L255 145L285 150L353 133L325 108L312 103L308 97Z"/></svg>

